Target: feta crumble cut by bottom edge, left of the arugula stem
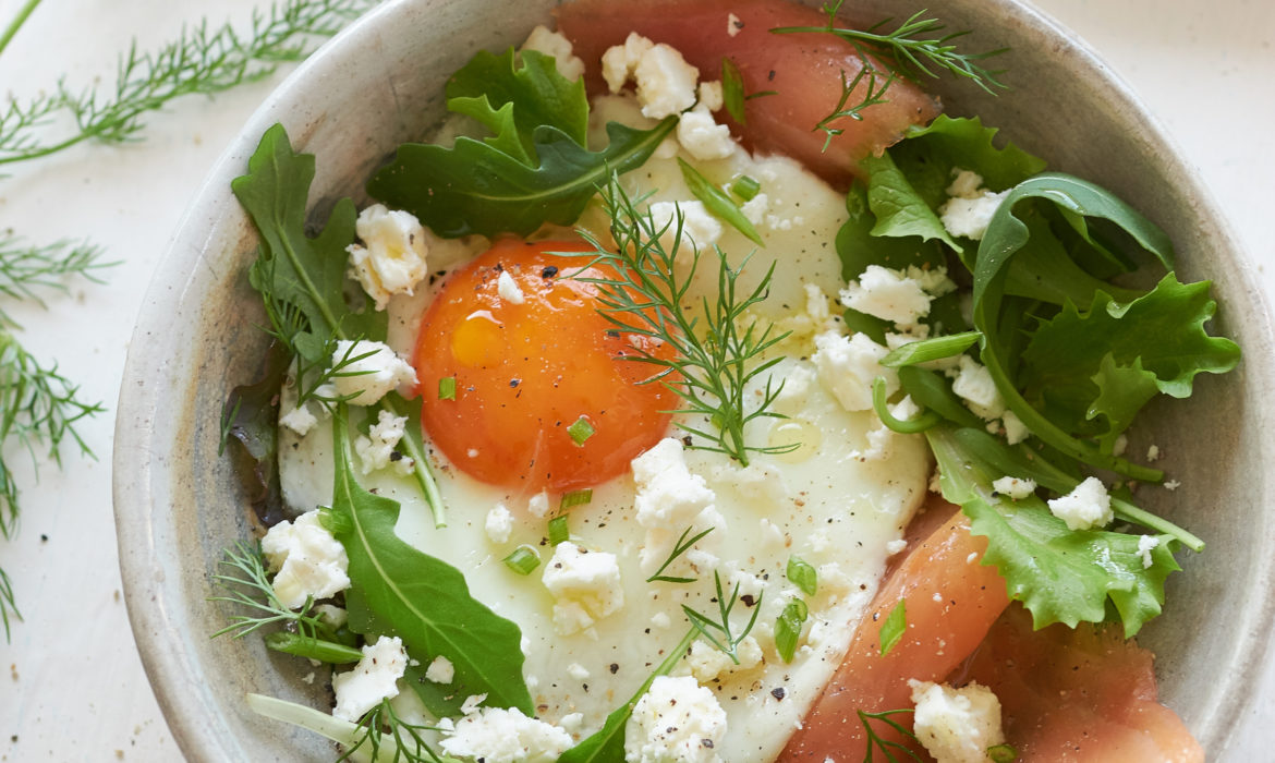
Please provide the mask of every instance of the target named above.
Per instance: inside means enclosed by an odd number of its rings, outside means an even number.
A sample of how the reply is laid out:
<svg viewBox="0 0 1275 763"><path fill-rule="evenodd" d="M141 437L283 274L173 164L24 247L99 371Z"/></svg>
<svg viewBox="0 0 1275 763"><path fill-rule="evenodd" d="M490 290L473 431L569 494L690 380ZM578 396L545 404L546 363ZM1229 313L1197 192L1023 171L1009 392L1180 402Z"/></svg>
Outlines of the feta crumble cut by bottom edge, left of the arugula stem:
<svg viewBox="0 0 1275 763"><path fill-rule="evenodd" d="M456 721L439 746L483 763L553 763L572 744L562 729L528 718L516 707L484 707Z"/></svg>

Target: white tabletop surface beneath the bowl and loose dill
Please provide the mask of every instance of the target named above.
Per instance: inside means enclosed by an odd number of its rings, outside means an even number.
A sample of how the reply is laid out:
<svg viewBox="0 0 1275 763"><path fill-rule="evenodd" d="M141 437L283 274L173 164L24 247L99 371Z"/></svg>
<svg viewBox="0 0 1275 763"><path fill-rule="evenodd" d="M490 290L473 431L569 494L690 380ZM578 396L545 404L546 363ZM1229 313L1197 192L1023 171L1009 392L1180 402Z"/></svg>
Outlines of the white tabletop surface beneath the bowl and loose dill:
<svg viewBox="0 0 1275 763"><path fill-rule="evenodd" d="M0 27L20 0L0 0ZM1267 226L1275 199L1275 4L1269 0L1037 0L1128 79L1204 176L1248 248L1267 293L1275 264ZM0 94L33 93L60 73L110 83L115 56L144 50L208 15L246 19L252 0L43 0L0 56ZM91 237L120 264L108 285L73 282L47 310L10 307L20 338L113 408L138 305L187 199L275 75L215 101L194 97L150 119L147 139L80 145L0 179L0 230L36 241ZM116 564L107 412L82 427L97 461L66 456L26 486L18 537L0 542L26 621L0 642L0 760L171 760L177 749L135 651ZM1275 683L1275 675L1271 676ZM1275 723L1270 698L1262 723ZM1267 750L1269 752L1269 750ZM1261 755L1258 755L1261 758ZM1256 758L1255 758L1256 759Z"/></svg>

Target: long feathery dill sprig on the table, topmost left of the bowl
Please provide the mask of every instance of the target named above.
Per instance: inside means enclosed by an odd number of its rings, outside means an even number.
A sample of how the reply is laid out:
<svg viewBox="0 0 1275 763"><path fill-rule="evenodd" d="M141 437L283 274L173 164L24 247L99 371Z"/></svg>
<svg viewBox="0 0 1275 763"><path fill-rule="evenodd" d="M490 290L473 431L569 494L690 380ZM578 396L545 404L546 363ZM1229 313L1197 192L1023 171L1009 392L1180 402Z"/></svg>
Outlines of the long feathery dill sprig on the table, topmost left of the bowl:
<svg viewBox="0 0 1275 763"><path fill-rule="evenodd" d="M119 59L113 91L101 92L99 85L75 91L62 79L51 93L27 102L10 100L0 108L0 165L40 158L89 139L135 140L147 114L175 98L219 93L268 77L282 63L300 61L316 38L337 33L374 4L287 0L268 13L254 13L246 34L231 24L213 29L204 20L154 52L140 52L134 42ZM45 128L61 115L74 128L46 138Z"/></svg>

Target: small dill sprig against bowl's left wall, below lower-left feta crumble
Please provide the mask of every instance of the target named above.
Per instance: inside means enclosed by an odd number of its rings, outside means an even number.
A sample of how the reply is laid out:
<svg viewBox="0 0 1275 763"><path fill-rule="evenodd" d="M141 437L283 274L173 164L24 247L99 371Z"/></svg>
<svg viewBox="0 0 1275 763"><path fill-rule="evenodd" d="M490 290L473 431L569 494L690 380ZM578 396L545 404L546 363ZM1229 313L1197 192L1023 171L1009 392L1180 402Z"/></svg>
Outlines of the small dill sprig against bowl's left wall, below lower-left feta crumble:
<svg viewBox="0 0 1275 763"><path fill-rule="evenodd" d="M311 611L312 600L306 598L306 604L298 610L283 606L283 602L274 593L274 586L266 577L260 547L238 541L222 551L218 567L227 572L213 573L213 584L224 591L226 595L210 596L208 601L224 601L244 606L249 611L247 614L231 615L229 625L214 633L212 638L227 633L231 634L231 638L241 638L275 623L283 624L284 628L303 638L332 638L330 629L324 625L319 615Z"/></svg>

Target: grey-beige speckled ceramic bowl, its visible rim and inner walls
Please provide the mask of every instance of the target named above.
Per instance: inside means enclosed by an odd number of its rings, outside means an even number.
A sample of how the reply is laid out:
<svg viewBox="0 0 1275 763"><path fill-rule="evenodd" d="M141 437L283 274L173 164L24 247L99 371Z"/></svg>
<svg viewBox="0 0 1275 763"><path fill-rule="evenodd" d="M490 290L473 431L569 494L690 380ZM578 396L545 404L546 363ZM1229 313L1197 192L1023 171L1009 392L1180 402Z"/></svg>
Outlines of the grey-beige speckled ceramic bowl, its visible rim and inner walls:
<svg viewBox="0 0 1275 763"><path fill-rule="evenodd" d="M815 4L815 3L812 3ZM133 336L120 393L115 513L129 615L168 725L191 760L330 759L309 732L250 713L259 692L306 702L309 667L268 653L259 639L209 639L224 624L208 604L221 550L249 536L247 496L231 457L217 453L227 392L254 379L264 350L260 304L245 267L255 233L229 193L261 133L280 121L295 145L319 157L316 217L333 199L362 200L362 181L403 140L442 114L442 85L479 47L519 42L548 19L552 0L389 3L301 66L245 125L191 204L161 264ZM900 17L907 0L857 4L863 19ZM1183 555L1165 616L1142 643L1159 655L1163 699L1210 759L1228 755L1248 683L1271 632L1275 537L1266 503L1275 463L1267 433L1275 378L1271 320L1251 264L1155 120L1082 43L1010 0L951 0L951 28L977 29L973 48L1009 46L998 63L1012 92L992 98L937 80L952 114L977 114L1056 168L1095 180L1164 226L1183 278L1209 276L1223 311L1216 328L1244 350L1239 369L1204 378L1187 404L1164 406L1133 453L1156 443L1182 481L1140 494L1209 542ZM1238 750L1229 750L1237 753Z"/></svg>

